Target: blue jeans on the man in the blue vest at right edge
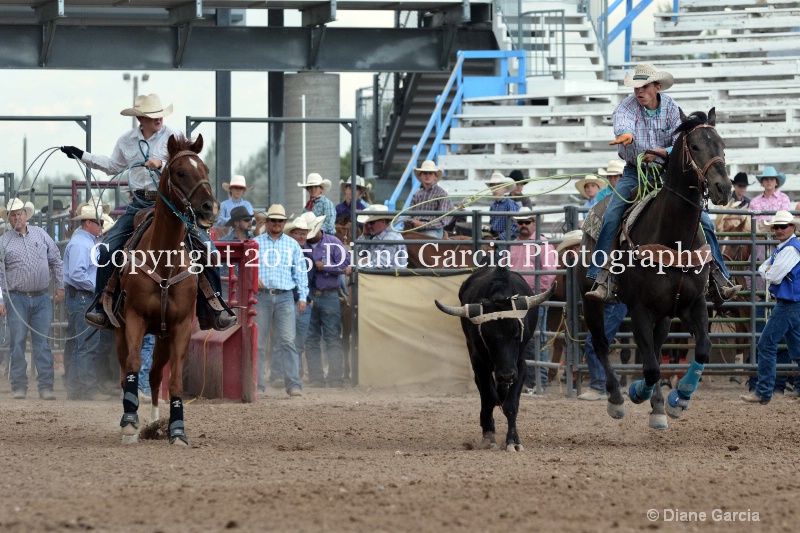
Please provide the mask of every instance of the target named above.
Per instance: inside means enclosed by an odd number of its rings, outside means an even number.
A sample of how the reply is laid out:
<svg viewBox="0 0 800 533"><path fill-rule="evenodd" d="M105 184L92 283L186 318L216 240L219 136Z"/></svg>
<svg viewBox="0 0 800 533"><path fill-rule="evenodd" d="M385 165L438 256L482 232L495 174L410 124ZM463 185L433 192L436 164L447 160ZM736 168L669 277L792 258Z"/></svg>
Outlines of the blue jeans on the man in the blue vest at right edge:
<svg viewBox="0 0 800 533"><path fill-rule="evenodd" d="M758 384L755 392L764 399L772 398L778 343L784 335L789 356L800 359L800 302L779 300L758 340Z"/></svg>

